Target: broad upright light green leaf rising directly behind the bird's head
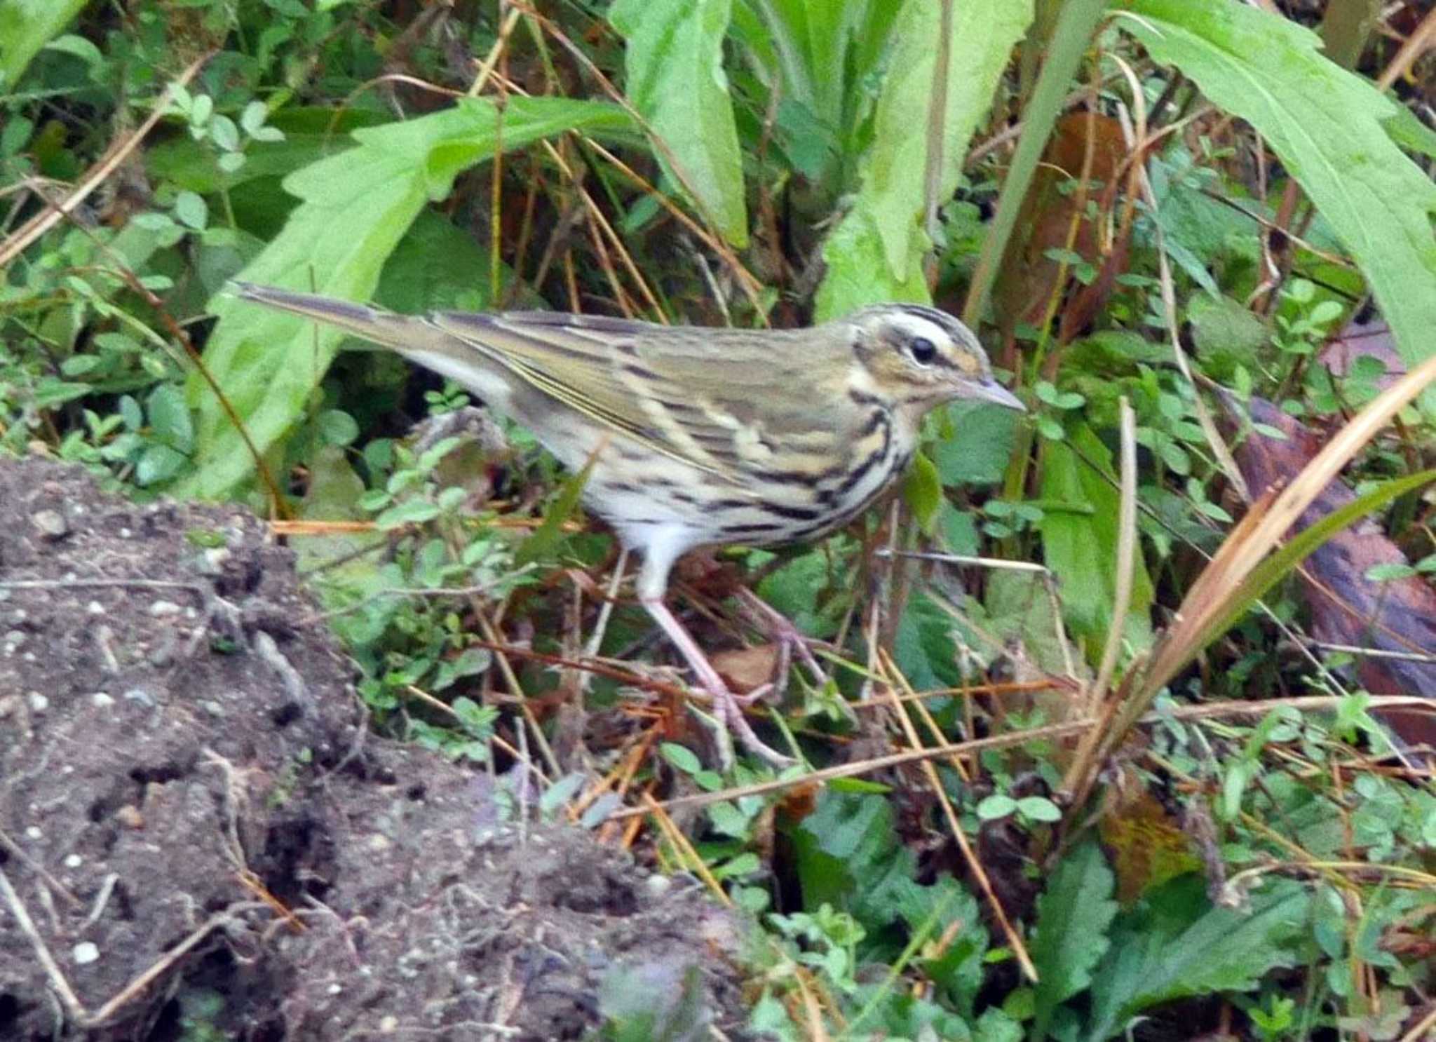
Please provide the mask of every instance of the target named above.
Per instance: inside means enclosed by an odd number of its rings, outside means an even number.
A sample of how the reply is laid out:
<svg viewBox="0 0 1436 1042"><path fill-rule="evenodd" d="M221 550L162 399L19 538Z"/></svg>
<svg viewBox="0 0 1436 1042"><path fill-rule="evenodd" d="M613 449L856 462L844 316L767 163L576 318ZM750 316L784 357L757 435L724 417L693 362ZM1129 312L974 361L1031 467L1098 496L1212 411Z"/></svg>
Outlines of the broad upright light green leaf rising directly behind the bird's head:
<svg viewBox="0 0 1436 1042"><path fill-rule="evenodd" d="M941 36L941 6L909 0L893 26L893 53L873 112L873 141L852 211L823 247L827 276L817 317L883 300L929 299L922 258L928 122ZM992 103L1012 44L1032 20L1031 0L956 4L952 17L938 197L958 185L968 139Z"/></svg>

